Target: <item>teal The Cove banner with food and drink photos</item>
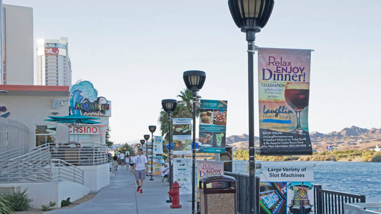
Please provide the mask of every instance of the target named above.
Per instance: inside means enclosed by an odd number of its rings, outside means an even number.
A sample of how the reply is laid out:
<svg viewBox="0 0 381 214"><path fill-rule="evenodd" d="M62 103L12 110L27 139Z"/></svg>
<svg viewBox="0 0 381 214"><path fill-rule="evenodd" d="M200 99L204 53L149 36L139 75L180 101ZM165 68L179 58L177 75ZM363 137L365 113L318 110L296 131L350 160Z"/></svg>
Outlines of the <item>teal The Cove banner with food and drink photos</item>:
<svg viewBox="0 0 381 214"><path fill-rule="evenodd" d="M201 100L198 148L201 153L224 153L227 101Z"/></svg>

